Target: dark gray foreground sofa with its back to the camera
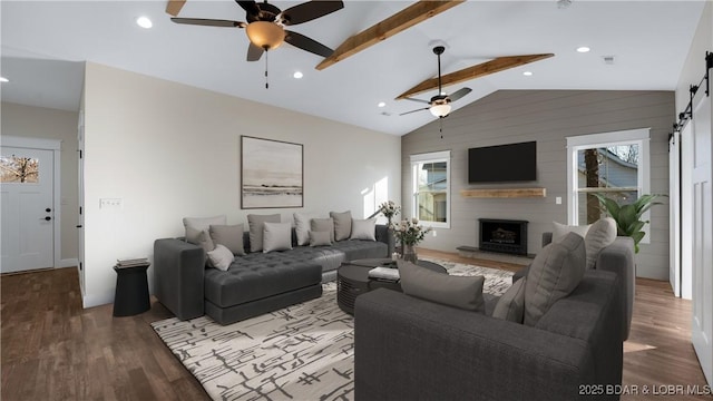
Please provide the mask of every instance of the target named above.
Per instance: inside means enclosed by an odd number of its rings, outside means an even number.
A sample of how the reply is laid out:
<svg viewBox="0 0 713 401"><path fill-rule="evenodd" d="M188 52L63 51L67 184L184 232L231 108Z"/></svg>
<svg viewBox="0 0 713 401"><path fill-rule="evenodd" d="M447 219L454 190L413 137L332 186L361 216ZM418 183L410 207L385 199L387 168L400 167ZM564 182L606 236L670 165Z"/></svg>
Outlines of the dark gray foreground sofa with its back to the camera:
<svg viewBox="0 0 713 401"><path fill-rule="evenodd" d="M394 291L360 295L355 399L618 400L633 245L616 238L535 325Z"/></svg>

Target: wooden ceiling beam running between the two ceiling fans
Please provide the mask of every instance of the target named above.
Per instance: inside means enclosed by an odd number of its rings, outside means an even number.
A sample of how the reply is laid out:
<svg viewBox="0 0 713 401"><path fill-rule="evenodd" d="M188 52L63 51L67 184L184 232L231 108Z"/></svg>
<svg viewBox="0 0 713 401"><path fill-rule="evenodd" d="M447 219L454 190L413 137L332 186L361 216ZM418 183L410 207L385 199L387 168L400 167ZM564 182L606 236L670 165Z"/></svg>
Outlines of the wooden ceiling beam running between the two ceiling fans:
<svg viewBox="0 0 713 401"><path fill-rule="evenodd" d="M456 1L418 1L394 13L385 20L363 30L340 45L334 52L322 60L315 68L323 70L336 62L379 43L414 25L453 8L465 0Z"/></svg>

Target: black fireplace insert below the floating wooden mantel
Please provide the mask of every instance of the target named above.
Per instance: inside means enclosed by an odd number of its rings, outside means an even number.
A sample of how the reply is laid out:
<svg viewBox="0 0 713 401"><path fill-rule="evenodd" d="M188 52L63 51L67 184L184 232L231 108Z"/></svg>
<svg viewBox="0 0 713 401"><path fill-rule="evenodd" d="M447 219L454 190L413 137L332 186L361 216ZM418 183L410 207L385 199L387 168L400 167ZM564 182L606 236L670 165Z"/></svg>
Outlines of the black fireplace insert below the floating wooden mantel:
<svg viewBox="0 0 713 401"><path fill-rule="evenodd" d="M526 221L478 218L480 251L527 255Z"/></svg>

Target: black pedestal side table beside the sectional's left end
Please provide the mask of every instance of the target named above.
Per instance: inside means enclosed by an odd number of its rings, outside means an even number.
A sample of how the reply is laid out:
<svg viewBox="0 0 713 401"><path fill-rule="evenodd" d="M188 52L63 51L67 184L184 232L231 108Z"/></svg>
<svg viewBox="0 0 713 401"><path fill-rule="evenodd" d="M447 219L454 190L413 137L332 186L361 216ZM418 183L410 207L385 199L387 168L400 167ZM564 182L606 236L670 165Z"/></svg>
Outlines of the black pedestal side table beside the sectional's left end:
<svg viewBox="0 0 713 401"><path fill-rule="evenodd" d="M116 271L116 293L114 294L114 315L131 316L152 309L148 297L146 270L150 264L118 267Z"/></svg>

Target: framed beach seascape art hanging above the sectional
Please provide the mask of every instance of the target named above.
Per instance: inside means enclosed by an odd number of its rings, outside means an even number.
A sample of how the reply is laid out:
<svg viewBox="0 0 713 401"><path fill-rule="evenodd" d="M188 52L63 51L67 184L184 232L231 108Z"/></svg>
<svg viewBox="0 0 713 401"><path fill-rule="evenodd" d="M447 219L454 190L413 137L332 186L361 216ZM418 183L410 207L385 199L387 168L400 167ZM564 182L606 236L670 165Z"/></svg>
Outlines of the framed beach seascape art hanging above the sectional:
<svg viewBox="0 0 713 401"><path fill-rule="evenodd" d="M303 206L303 145L241 136L241 208Z"/></svg>

